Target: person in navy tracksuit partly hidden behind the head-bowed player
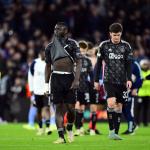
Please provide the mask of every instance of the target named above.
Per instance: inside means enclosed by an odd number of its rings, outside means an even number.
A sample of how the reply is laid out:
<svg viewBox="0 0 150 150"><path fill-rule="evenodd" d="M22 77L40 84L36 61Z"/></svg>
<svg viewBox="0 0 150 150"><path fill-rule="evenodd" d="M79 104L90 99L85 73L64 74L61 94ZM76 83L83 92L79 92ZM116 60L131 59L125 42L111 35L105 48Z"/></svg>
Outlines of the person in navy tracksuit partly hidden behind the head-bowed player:
<svg viewBox="0 0 150 150"><path fill-rule="evenodd" d="M133 54L135 52L133 51ZM138 100L137 94L138 89L142 85L142 77L141 77L141 68L136 59L132 61L132 88L129 91L129 97L127 102L123 106L123 114L128 123L128 129L122 134L130 135L134 134L134 130L136 128L135 118L134 118L134 104L135 100Z"/></svg>

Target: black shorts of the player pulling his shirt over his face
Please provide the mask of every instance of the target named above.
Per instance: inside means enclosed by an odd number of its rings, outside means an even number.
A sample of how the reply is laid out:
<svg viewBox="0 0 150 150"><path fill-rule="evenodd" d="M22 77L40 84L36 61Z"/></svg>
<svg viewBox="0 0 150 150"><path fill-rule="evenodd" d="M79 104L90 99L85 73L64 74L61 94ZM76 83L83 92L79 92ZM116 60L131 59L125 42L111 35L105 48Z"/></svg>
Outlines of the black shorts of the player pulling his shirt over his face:
<svg viewBox="0 0 150 150"><path fill-rule="evenodd" d="M70 89L74 80L74 74L57 74L51 76L51 101L54 104L76 103L75 90Z"/></svg>

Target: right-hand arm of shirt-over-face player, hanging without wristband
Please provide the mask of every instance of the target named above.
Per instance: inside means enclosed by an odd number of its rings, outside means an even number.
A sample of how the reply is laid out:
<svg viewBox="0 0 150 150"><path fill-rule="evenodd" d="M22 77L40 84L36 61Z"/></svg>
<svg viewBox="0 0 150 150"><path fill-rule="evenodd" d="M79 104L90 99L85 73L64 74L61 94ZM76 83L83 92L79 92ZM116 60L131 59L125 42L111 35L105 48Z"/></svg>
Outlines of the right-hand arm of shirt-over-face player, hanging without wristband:
<svg viewBox="0 0 150 150"><path fill-rule="evenodd" d="M75 78L71 85L71 89L77 89L79 87L79 78L80 78L80 72L82 68L82 55L80 53L80 48L77 43L75 43L75 63L76 63L76 70L75 70Z"/></svg>

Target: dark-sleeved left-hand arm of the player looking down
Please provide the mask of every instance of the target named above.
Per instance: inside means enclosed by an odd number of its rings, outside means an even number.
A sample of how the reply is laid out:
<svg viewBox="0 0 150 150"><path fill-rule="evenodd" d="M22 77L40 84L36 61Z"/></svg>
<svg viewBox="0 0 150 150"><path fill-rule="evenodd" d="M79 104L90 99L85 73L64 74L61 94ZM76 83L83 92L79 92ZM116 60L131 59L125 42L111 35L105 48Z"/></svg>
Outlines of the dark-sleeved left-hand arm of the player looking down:
<svg viewBox="0 0 150 150"><path fill-rule="evenodd" d="M99 78L100 78L100 72L102 69L102 46L100 45L99 51L97 53L97 62L95 65L95 77L94 77L94 86L96 90L99 90Z"/></svg>

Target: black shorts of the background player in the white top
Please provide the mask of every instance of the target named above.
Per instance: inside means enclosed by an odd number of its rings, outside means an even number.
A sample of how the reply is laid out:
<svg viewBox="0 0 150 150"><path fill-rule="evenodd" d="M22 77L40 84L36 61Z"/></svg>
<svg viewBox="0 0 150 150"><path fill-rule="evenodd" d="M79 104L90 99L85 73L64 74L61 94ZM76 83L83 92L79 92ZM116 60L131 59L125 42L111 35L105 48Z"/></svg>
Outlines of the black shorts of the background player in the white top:
<svg viewBox="0 0 150 150"><path fill-rule="evenodd" d="M37 107L38 109L42 109L45 106L50 106L48 97L45 95L35 95L35 103L34 106Z"/></svg>

